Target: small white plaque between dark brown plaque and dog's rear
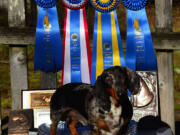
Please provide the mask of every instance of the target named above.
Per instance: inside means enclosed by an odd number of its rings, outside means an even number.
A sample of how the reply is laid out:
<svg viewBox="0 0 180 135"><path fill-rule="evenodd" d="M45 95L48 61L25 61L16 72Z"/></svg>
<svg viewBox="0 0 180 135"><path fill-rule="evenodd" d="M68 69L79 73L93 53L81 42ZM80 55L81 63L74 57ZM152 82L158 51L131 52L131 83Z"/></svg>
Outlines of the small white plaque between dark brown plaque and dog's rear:
<svg viewBox="0 0 180 135"><path fill-rule="evenodd" d="M51 124L50 109L34 109L34 128L43 123Z"/></svg>

